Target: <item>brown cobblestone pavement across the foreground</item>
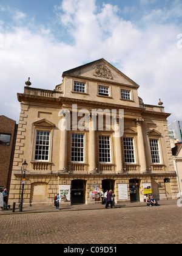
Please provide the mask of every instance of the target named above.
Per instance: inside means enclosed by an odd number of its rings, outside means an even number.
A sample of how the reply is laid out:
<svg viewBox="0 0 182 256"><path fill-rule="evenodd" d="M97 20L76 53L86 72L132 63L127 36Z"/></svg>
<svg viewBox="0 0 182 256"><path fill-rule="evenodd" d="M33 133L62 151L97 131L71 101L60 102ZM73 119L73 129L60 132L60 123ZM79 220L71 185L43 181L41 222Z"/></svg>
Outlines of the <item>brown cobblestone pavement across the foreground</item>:
<svg viewBox="0 0 182 256"><path fill-rule="evenodd" d="M182 207L0 215L0 244L182 243Z"/></svg>

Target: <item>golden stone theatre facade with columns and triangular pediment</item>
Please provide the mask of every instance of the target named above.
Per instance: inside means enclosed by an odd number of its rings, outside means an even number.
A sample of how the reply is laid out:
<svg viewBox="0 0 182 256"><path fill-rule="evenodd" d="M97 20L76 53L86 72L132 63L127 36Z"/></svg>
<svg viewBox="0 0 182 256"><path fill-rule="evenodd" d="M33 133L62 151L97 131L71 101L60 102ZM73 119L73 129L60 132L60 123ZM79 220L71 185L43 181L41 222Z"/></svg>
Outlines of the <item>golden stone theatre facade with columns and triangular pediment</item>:
<svg viewBox="0 0 182 256"><path fill-rule="evenodd" d="M96 204L101 189L114 190L116 203L144 201L151 189L157 199L177 198L170 114L161 102L144 104L133 80L99 59L64 72L55 90L29 84L18 93L10 202L19 203L24 160L26 204L52 204L58 191L67 191L65 204Z"/></svg>

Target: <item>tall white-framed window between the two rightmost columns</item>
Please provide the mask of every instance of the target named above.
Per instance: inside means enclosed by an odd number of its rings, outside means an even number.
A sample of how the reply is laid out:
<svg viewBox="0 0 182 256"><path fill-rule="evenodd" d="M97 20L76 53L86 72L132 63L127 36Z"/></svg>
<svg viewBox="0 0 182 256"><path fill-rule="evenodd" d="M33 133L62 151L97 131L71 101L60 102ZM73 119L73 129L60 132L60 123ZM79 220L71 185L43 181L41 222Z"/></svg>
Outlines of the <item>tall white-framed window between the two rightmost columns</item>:
<svg viewBox="0 0 182 256"><path fill-rule="evenodd" d="M123 144L124 144L124 162L125 163L130 163L130 164L133 164L135 163L135 143L134 143L134 139L132 137L124 137L123 138ZM126 146L129 147L128 149L126 149ZM130 147L132 147L132 149L130 149ZM128 155L131 155L131 157L126 157L126 151L131 151L131 153L129 153ZM133 157L132 157L133 155ZM132 160L133 161L129 161L129 160Z"/></svg>

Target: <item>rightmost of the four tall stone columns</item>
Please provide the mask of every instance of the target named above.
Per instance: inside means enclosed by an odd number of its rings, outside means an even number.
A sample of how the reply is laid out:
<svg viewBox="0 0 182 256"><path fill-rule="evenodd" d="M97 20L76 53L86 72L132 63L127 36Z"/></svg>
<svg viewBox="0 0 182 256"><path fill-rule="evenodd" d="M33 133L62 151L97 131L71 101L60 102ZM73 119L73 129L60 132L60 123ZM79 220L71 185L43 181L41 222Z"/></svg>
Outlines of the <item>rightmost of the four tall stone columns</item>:
<svg viewBox="0 0 182 256"><path fill-rule="evenodd" d="M143 118L137 118L135 120L136 122L136 129L138 133L138 154L140 158L140 172L141 173L147 173L147 164L146 164L146 153L144 148L144 139L143 139L143 130L142 130L142 124L144 119Z"/></svg>

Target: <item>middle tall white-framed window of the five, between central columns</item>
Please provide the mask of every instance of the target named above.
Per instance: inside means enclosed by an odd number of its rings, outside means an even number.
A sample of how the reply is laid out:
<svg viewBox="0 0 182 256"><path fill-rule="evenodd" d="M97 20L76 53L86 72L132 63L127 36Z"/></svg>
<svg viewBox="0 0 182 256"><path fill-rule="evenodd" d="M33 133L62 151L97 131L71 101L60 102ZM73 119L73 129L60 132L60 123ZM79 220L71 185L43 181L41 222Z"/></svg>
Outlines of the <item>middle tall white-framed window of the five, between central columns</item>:
<svg viewBox="0 0 182 256"><path fill-rule="evenodd" d="M105 138L106 137L106 138ZM107 141L107 145L109 144L109 148L106 148L106 143L100 143L103 141ZM108 143L109 141L109 143ZM100 152L103 151L103 152ZM102 154L106 154L107 156L103 157ZM99 135L99 163L112 163L111 159L111 144L110 144L110 136L109 135ZM110 158L110 161L109 161ZM103 161L107 159L107 161Z"/></svg>

